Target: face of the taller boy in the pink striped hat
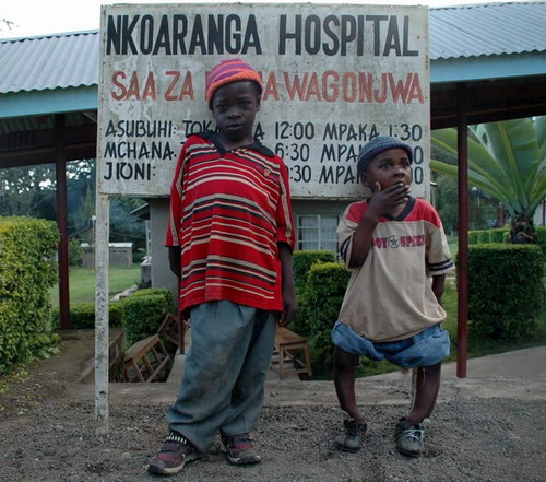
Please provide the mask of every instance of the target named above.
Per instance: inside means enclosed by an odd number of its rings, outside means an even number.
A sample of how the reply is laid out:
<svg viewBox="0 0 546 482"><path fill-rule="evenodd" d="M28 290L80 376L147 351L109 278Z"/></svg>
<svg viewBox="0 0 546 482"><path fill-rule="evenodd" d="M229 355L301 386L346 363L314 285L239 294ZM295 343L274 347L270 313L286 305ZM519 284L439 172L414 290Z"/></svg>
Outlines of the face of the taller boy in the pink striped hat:
<svg viewBox="0 0 546 482"><path fill-rule="evenodd" d="M221 136L232 142L253 141L252 126L259 110L260 96L252 81L223 85L212 101L212 115Z"/></svg>

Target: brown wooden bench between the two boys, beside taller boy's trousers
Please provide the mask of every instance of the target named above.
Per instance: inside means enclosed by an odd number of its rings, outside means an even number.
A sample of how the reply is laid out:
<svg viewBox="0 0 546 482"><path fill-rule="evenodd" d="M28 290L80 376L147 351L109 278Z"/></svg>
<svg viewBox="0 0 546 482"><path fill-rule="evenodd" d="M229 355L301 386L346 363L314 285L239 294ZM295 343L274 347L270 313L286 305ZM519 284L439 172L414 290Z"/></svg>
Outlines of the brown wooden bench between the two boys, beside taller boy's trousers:
<svg viewBox="0 0 546 482"><path fill-rule="evenodd" d="M302 357L298 357L298 354L302 354ZM296 373L298 376L311 377L311 356L307 340L288 330L288 328L277 327L271 365L272 368L278 365L278 377L281 379L285 377L288 371Z"/></svg>

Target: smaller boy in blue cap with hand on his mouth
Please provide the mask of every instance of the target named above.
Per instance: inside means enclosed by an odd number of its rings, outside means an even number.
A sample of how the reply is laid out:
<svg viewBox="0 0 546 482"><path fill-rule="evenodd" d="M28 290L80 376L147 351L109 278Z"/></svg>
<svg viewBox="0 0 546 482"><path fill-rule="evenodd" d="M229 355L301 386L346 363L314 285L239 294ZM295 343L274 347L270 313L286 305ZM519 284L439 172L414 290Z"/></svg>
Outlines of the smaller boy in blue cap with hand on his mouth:
<svg viewBox="0 0 546 482"><path fill-rule="evenodd" d="M438 213L410 196L412 161L412 148L399 139L368 142L358 174L372 195L352 203L337 227L342 258L353 271L332 331L335 389L347 415L336 440L344 451L361 448L367 427L355 395L360 356L418 367L414 404L395 427L397 450L418 457L423 421L435 407L441 361L449 354L441 296L454 266Z"/></svg>

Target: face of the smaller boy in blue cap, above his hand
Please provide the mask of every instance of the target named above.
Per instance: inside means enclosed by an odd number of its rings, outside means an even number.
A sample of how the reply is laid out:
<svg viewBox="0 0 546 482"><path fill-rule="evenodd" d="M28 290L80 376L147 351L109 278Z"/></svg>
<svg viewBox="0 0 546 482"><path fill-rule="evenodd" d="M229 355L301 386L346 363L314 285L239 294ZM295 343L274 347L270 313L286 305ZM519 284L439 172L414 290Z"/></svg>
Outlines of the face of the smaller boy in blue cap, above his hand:
<svg viewBox="0 0 546 482"><path fill-rule="evenodd" d="M368 184L372 191L376 190L376 183L379 183L381 190L397 183L410 186L412 184L412 164L405 149L394 148L379 153L368 164L363 180Z"/></svg>

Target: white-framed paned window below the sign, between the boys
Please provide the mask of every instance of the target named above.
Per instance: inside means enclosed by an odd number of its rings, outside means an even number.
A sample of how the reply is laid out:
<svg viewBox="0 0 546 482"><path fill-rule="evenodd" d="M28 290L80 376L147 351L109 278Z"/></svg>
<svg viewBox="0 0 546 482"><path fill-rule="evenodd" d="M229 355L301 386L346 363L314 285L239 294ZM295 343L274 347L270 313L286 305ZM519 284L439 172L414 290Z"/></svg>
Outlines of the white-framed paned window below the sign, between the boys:
<svg viewBox="0 0 546 482"><path fill-rule="evenodd" d="M330 249L337 254L339 215L332 214L298 214L299 250Z"/></svg>

